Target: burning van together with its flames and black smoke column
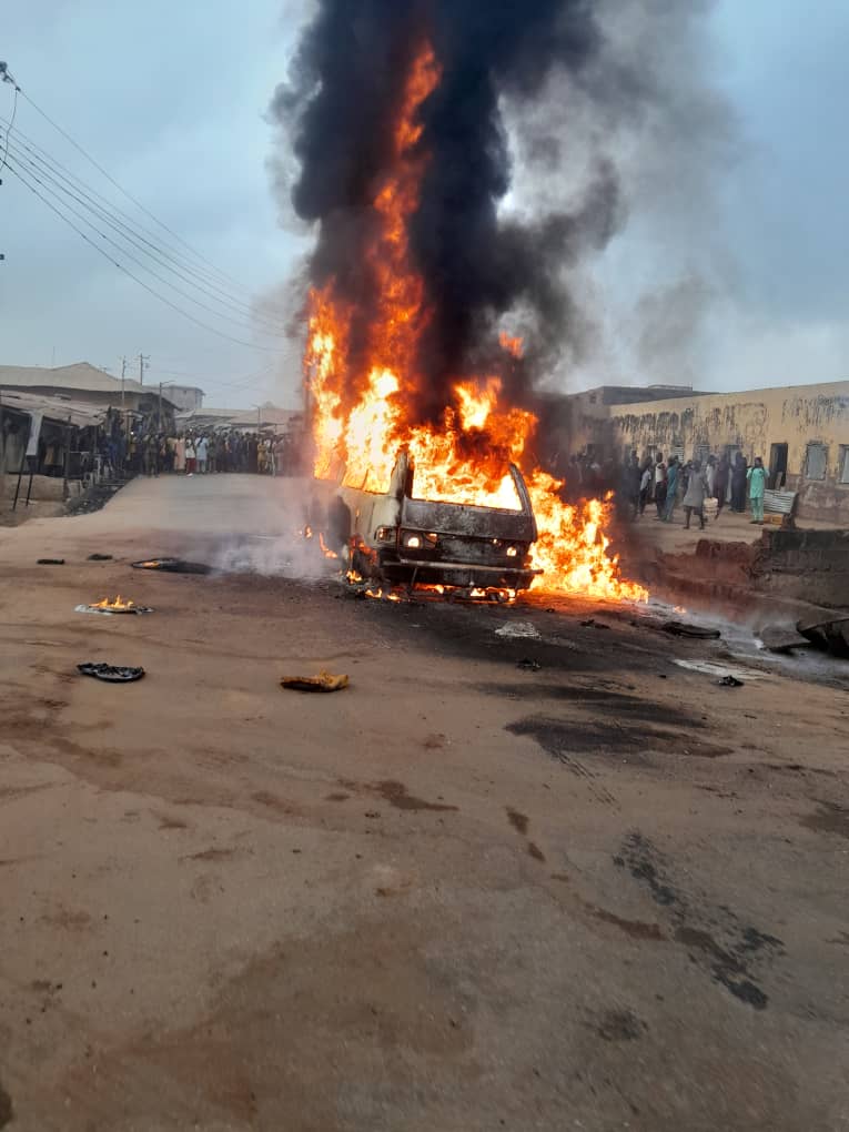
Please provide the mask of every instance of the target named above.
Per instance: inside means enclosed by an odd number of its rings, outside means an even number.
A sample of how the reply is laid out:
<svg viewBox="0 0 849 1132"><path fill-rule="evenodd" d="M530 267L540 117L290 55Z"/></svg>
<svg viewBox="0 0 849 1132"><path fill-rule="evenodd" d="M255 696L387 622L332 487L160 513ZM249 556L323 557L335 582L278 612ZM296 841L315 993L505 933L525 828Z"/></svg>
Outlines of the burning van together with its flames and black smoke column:
<svg viewBox="0 0 849 1132"><path fill-rule="evenodd" d="M615 230L610 165L544 223L499 212L499 83L539 85L597 42L590 7L563 7L367 6L353 36L351 5L320 0L275 94L300 158L291 199L316 225L303 384L324 516L309 528L354 578L648 597L610 552L609 500L569 500L548 471L559 440L534 392L576 317L564 265ZM363 66L352 36L384 65Z"/></svg>

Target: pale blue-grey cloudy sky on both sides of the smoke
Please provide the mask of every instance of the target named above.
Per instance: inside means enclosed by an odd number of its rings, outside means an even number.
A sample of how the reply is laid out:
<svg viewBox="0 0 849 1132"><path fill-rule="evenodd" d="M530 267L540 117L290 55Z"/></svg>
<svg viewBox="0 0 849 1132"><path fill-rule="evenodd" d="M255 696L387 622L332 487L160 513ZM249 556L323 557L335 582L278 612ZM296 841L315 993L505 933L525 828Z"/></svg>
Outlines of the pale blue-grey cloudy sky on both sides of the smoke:
<svg viewBox="0 0 849 1132"><path fill-rule="evenodd" d="M299 272L309 232L275 199L268 158L281 140L266 111L307 5L5 7L0 59L28 98L204 259L157 229L19 98L12 163L17 155L17 168L32 175L34 166L20 163L33 152L22 147L35 144L126 209L149 240L130 254L149 265L144 250L155 245L170 257L158 273L186 294L134 265L126 245L108 250L197 321L129 278L5 170L0 363L86 360L120 374L126 357L136 376L143 353L145 381L197 384L207 405L295 405L300 360L280 331L278 297ZM697 186L687 182L685 165L696 165L686 147L655 145L651 155L633 147L627 222L582 280L597 349L557 374L561 388L849 378L847 42L844 0L718 0L710 8L698 82L721 108L721 138L703 147ZM0 85L0 119L9 118L12 96ZM0 155L2 131L0 121ZM79 207L55 182L34 187ZM119 239L102 223L100 231ZM181 277L169 271L177 260ZM260 300L275 320L265 333L250 312Z"/></svg>

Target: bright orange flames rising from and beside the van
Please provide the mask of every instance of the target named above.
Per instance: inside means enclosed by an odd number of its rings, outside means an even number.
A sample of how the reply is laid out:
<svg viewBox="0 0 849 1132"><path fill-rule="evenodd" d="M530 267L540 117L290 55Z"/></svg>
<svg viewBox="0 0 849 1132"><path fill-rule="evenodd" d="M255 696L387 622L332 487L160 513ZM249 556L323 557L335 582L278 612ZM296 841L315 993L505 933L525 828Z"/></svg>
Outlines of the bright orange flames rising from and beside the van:
<svg viewBox="0 0 849 1132"><path fill-rule="evenodd" d="M365 351L355 363L350 351L353 311L331 281L309 297L305 378L310 397L314 473L370 491L385 491L402 448L415 469L417 496L446 503L518 509L507 464L523 469L539 539L533 565L543 571L538 590L578 592L593 598L645 600L646 591L619 577L618 559L608 555L604 534L609 500L578 506L560 498L564 483L529 466L529 441L537 418L501 404L498 377L457 381L437 427L419 424L409 410L421 386L417 348L429 321L421 277L413 269L408 221L417 209L427 154L419 148L419 109L439 83L429 45L417 57L401 100L389 171L371 203L376 235L367 267L379 297ZM523 342L507 333L501 349L521 358Z"/></svg>

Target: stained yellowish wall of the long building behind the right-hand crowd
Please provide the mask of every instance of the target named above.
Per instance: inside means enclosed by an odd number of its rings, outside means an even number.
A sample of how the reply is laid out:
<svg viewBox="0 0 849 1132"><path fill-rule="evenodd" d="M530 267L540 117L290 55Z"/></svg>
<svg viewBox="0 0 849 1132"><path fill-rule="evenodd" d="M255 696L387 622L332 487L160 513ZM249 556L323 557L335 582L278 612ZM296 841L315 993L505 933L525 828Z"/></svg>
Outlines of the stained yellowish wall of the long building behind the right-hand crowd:
<svg viewBox="0 0 849 1132"><path fill-rule="evenodd" d="M841 461L849 447L849 381L755 389L748 393L611 405L611 443L617 454L632 448L642 456L653 447L668 454L676 446L686 460L700 446L714 454L739 448L751 462L770 462L773 444L787 444L788 490L799 492L799 517L849 525L849 483L841 483ZM825 448L825 477L806 466L808 445Z"/></svg>

